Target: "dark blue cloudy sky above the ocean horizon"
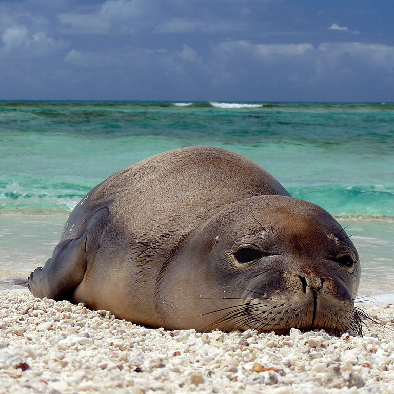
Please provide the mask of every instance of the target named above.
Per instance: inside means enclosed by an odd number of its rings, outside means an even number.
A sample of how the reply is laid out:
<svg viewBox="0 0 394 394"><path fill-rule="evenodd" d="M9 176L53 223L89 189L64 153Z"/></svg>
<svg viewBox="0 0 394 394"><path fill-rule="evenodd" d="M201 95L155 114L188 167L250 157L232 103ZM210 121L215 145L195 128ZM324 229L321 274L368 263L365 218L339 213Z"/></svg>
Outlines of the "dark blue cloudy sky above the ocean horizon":
<svg viewBox="0 0 394 394"><path fill-rule="evenodd" d="M381 0L0 0L0 99L394 101Z"/></svg>

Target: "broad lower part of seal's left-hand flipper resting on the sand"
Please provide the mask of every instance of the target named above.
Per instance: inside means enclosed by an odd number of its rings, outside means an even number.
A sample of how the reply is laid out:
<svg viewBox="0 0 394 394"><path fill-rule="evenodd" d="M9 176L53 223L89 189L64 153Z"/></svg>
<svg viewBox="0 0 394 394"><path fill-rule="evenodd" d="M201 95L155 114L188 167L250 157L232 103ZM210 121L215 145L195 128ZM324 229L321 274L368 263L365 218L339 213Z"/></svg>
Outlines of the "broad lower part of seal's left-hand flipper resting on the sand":
<svg viewBox="0 0 394 394"><path fill-rule="evenodd" d="M73 289L80 284L86 271L86 240L88 233L81 238L61 241L53 255L44 265L38 267L28 278L27 287L36 297L67 299Z"/></svg>

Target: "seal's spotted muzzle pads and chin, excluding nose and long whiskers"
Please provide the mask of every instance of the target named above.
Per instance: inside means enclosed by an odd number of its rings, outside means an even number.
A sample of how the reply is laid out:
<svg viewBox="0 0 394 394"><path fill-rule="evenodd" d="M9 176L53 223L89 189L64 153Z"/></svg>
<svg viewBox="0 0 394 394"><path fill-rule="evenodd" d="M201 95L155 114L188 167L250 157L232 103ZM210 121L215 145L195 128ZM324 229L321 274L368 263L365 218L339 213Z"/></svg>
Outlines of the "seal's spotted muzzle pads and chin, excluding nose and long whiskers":
<svg viewBox="0 0 394 394"><path fill-rule="evenodd" d="M342 333L356 330L356 310L350 300L339 300L322 290L277 293L256 298L249 304L249 328L260 332L288 334L291 328Z"/></svg>

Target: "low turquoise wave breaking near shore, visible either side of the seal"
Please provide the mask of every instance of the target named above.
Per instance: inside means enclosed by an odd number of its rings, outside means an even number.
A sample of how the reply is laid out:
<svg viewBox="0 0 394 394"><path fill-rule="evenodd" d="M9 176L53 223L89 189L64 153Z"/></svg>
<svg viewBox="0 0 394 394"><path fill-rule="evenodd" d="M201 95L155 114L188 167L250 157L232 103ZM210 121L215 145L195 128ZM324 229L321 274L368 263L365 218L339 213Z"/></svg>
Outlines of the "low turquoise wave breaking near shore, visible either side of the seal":
<svg viewBox="0 0 394 394"><path fill-rule="evenodd" d="M69 211L91 190L91 186L77 182L47 184L44 180L19 185L18 181L11 181L0 185L0 210ZM293 197L317 204L332 215L394 216L394 185L323 184L286 188Z"/></svg>

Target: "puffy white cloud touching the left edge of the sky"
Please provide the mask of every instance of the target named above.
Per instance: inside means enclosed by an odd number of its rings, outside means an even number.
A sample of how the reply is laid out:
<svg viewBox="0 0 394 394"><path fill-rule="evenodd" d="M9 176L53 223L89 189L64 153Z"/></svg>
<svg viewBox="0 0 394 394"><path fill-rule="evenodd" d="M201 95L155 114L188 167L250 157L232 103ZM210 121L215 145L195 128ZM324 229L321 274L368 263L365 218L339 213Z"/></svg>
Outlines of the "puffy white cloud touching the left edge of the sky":
<svg viewBox="0 0 394 394"><path fill-rule="evenodd" d="M66 45L63 40L55 40L45 32L37 32L30 36L26 26L18 25L13 25L4 31L2 42L7 51L32 49L35 54L45 54Z"/></svg>

